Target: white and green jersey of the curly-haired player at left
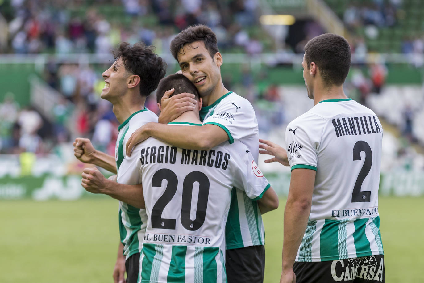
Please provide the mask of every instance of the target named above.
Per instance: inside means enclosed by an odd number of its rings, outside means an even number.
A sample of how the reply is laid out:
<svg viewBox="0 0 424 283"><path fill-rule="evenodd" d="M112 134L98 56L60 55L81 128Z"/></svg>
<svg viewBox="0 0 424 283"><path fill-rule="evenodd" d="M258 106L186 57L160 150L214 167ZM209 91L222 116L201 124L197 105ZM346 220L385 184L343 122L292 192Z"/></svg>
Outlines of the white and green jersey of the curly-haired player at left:
<svg viewBox="0 0 424 283"><path fill-rule="evenodd" d="M149 122L157 122L158 117L147 108L133 113L119 127L119 134L116 140L115 160L118 171L117 182L127 185L137 185L139 178L128 174L129 163L126 160L126 142L131 134L139 127ZM139 155L135 147L132 155ZM142 240L146 228L147 215L144 209L139 209L128 205L125 202L119 202L119 234L124 245L124 255L129 258L131 255L141 252Z"/></svg>

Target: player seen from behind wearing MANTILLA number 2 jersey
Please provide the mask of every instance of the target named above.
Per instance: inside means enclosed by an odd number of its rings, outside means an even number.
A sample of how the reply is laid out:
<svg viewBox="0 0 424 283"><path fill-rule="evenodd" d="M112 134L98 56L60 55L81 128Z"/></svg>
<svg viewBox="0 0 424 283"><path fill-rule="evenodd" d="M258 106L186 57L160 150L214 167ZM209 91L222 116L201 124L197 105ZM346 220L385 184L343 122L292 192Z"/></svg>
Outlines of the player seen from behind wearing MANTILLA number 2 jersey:
<svg viewBox="0 0 424 283"><path fill-rule="evenodd" d="M350 60L342 36L311 39L302 66L315 106L287 126L287 156L268 141L260 146L291 166L281 283L385 281L378 212L382 126L343 92Z"/></svg>

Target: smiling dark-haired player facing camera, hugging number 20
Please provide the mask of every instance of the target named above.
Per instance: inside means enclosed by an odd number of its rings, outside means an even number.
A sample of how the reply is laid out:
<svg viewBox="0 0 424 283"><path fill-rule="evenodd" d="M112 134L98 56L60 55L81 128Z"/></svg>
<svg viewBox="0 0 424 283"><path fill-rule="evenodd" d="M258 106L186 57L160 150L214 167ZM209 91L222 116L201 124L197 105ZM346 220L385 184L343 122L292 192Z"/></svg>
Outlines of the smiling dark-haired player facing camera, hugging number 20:
<svg viewBox="0 0 424 283"><path fill-rule="evenodd" d="M181 112L192 110L194 104L187 93L162 98L160 123L148 123L134 132L127 142L127 154L135 144L155 137L173 146L192 150L209 150L221 143L239 140L258 160L259 136L255 112L241 96L225 88L220 67L216 35L205 25L195 25L181 31L171 42L171 53L181 72L195 84L202 98L202 125L167 125ZM185 99L185 100L184 100ZM231 192L231 205L226 224L226 271L228 281L262 282L265 270L264 226L256 201L248 198L243 188Z"/></svg>

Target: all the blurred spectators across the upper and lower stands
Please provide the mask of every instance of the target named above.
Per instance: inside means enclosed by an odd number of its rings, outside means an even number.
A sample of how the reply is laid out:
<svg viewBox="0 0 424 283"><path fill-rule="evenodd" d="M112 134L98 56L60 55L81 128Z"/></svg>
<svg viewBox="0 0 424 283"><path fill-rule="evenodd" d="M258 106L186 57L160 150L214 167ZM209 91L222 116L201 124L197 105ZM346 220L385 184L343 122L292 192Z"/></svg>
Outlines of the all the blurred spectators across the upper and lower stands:
<svg viewBox="0 0 424 283"><path fill-rule="evenodd" d="M387 50L375 48L373 42L381 39L382 31L399 26L404 18L402 0L343 1L341 8L337 6L340 1L325 2L334 8L354 35L350 43L352 54L358 58L375 51L424 52L423 37L418 34L405 34L396 46L378 45L379 48L387 47ZM261 11L258 5L259 1L255 0L3 0L0 1L0 13L6 19L9 40L0 44L0 51L110 56L110 49L119 42L144 41L156 46L156 52L163 56L169 55L170 41L178 31L204 23L217 34L220 51L224 54L301 54L307 40L324 32L317 22L311 20L301 26L304 36L296 44L287 41L276 44L259 24ZM79 136L89 137L98 149L114 155L118 122L109 102L100 99L99 95L104 84L101 73L108 67L107 64L47 62L41 77L61 94L61 100L53 109L53 120L43 117L34 107L21 107L14 98L17 94L7 93L0 102L0 152L48 154L54 152L56 145ZM248 64L241 68L240 81L228 80L224 84L252 102L263 134L276 135L278 140L284 140L282 134L287 123L313 106L313 102L306 98L306 90L302 86L257 84L267 74L260 73L258 79ZM345 84L348 96L368 104L371 109L374 105L378 107L379 101L387 100L386 95L380 95L387 72L384 63L352 65ZM152 96L146 106L158 112ZM299 96L306 98L301 99L301 104L293 101ZM409 150L410 143L424 144L424 133L417 135L414 130L414 121L424 115L422 91L418 97L420 103L411 105L405 102L398 107L400 114L396 120L385 117L396 124L404 136L401 145L396 147L395 158L396 154L407 154L405 151ZM298 107L296 111L293 111L293 105ZM378 115L387 114L385 109L379 110L382 113L377 112Z"/></svg>

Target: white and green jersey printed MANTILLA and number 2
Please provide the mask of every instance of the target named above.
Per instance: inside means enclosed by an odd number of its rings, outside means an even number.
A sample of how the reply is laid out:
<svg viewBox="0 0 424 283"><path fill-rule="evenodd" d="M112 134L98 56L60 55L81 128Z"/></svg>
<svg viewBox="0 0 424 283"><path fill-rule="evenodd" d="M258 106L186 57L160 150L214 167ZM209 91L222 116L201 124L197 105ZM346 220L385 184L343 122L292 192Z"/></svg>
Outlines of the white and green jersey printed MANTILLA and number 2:
<svg viewBox="0 0 424 283"><path fill-rule="evenodd" d="M382 126L377 115L351 99L324 100L289 123L286 145L291 170L316 170L296 261L382 255Z"/></svg>

